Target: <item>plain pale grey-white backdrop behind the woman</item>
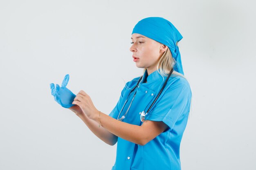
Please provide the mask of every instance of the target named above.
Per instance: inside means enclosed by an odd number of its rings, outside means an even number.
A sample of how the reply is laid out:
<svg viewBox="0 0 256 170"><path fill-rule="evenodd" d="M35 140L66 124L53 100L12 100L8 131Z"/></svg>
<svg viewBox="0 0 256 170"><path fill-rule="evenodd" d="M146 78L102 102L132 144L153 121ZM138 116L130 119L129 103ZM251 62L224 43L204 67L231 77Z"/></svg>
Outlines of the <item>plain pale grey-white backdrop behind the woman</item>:
<svg viewBox="0 0 256 170"><path fill-rule="evenodd" d="M115 107L142 75L130 52L143 18L171 21L192 109L182 170L256 169L253 0L0 0L0 170L110 170L116 146L54 101L50 83ZM152 157L154 159L154 157Z"/></svg>

